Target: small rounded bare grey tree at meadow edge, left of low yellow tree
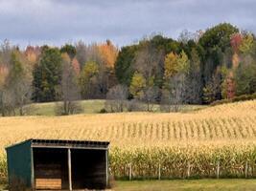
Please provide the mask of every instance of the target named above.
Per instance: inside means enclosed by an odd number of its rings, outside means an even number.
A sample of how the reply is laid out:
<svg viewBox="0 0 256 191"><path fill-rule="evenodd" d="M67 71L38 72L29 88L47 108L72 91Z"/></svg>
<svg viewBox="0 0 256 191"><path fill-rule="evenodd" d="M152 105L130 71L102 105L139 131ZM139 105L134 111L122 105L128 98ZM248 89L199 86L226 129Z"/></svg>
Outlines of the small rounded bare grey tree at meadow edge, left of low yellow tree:
<svg viewBox="0 0 256 191"><path fill-rule="evenodd" d="M124 112L128 99L128 87L116 85L106 94L105 108L110 112Z"/></svg>

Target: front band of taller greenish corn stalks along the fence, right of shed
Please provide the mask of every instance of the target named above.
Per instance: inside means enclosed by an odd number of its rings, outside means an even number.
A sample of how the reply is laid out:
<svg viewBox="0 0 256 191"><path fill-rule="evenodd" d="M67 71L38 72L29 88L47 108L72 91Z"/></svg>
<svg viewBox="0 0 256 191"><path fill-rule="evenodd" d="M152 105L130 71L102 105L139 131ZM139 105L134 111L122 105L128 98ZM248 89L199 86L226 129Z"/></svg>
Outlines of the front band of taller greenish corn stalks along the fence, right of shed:
<svg viewBox="0 0 256 191"><path fill-rule="evenodd" d="M255 178L256 145L113 149L111 173L127 179Z"/></svg>

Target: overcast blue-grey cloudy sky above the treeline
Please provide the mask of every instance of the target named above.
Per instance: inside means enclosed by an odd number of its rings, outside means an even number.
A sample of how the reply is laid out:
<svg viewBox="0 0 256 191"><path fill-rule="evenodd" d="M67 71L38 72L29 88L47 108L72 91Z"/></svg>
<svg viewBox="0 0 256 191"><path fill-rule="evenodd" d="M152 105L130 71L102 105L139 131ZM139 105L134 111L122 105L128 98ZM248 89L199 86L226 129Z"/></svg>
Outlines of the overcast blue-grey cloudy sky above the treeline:
<svg viewBox="0 0 256 191"><path fill-rule="evenodd" d="M176 38L220 22L256 32L256 0L0 0L0 40L22 47L79 39L121 47L153 32Z"/></svg>

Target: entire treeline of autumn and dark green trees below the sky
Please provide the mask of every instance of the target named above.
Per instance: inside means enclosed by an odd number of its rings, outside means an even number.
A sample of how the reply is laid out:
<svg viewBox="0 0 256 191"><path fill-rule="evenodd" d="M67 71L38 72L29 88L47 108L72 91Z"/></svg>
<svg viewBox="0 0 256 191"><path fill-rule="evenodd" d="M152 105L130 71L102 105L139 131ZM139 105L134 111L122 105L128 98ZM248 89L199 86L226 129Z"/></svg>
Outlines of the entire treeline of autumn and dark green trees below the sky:
<svg viewBox="0 0 256 191"><path fill-rule="evenodd" d="M177 40L153 35L122 47L107 40L86 45L32 47L8 41L0 50L2 116L23 115L24 105L59 101L61 114L79 111L79 99L106 98L105 110L178 111L256 92L256 38L223 23ZM129 100L129 101L128 101ZM139 103L139 104L138 104Z"/></svg>

